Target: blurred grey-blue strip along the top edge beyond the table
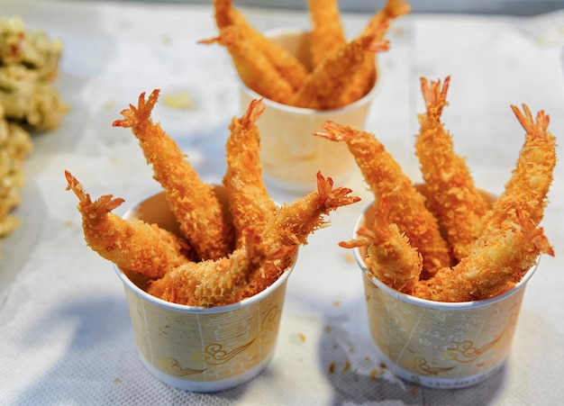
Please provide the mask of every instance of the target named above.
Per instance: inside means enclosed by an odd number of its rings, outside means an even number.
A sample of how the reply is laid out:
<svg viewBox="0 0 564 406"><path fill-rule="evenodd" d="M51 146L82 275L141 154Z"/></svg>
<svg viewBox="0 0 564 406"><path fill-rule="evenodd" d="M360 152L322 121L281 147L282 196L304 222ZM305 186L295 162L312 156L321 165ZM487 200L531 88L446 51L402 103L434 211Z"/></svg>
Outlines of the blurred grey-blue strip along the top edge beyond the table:
<svg viewBox="0 0 564 406"><path fill-rule="evenodd" d="M123 0L163 3L210 4L212 0ZM235 0L235 5L305 8L306 0ZM374 13L385 0L341 0L341 11ZM563 0L411 0L414 13L471 13L535 15L564 9Z"/></svg>

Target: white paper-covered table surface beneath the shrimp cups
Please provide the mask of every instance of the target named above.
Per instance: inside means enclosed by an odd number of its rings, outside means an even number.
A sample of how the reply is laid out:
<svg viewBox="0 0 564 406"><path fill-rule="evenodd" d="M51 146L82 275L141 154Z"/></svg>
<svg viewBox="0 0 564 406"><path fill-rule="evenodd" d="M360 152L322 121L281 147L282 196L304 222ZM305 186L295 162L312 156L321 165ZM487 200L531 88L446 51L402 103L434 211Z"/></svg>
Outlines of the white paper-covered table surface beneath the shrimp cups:
<svg viewBox="0 0 564 406"><path fill-rule="evenodd" d="M241 8L259 30L308 27L305 12ZM378 363L367 326L361 275L337 247L370 201L359 172L346 182L363 202L334 212L301 249L290 275L275 356L249 383L214 394L183 392L154 379L133 342L123 286L111 264L86 247L64 169L93 196L125 199L122 214L159 191L119 112L153 88L190 95L189 110L158 104L154 118L186 151L200 176L223 177L227 126L241 106L229 55L196 41L213 37L208 5L3 0L0 13L61 38L55 86L70 106L56 131L33 137L25 163L19 229L0 250L0 402L3 404L554 404L564 398L564 169L556 167L542 225L556 252L542 257L527 286L514 346L503 370L476 386L432 390ZM343 14L352 37L368 14ZM415 181L420 77L451 76L443 122L476 183L499 193L523 145L510 104L550 114L564 134L564 14L536 17L410 14L396 21L367 130ZM558 147L562 156L561 142ZM330 175L330 174L329 174ZM279 202L298 195L274 188ZM330 327L331 329L327 329ZM303 339L305 338L305 339ZM345 370L344 365L350 368ZM330 372L330 365L334 371ZM378 365L378 364L377 364Z"/></svg>

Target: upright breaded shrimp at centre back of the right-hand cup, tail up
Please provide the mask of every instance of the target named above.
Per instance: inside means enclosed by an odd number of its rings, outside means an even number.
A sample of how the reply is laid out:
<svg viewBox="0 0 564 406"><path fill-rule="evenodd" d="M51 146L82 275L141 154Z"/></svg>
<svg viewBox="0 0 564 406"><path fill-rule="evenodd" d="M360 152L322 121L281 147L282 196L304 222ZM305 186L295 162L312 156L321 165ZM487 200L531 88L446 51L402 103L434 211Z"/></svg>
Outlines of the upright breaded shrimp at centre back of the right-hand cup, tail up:
<svg viewBox="0 0 564 406"><path fill-rule="evenodd" d="M441 123L447 102L450 77L431 84L421 78L427 112L419 115L421 125L415 139L423 180L428 189L427 202L446 233L452 254L457 260L468 257L478 238L476 224L489 208L470 175L464 158L454 151L450 133Z"/></svg>

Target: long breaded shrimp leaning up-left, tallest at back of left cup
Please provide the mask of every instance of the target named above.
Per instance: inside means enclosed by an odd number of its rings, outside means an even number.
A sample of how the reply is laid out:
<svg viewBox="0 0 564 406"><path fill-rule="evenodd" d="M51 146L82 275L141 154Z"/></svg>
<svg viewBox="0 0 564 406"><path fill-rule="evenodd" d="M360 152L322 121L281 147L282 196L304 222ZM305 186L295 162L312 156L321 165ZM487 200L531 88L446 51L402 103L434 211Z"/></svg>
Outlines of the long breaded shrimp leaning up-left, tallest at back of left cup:
<svg viewBox="0 0 564 406"><path fill-rule="evenodd" d="M204 183L186 160L177 143L168 137L150 113L159 98L159 89L145 100L139 96L137 107L130 104L122 111L123 120L114 127L131 128L139 140L155 179L165 189L168 205L182 234L190 241L200 259L225 257L232 251L234 230L217 200L211 185Z"/></svg>

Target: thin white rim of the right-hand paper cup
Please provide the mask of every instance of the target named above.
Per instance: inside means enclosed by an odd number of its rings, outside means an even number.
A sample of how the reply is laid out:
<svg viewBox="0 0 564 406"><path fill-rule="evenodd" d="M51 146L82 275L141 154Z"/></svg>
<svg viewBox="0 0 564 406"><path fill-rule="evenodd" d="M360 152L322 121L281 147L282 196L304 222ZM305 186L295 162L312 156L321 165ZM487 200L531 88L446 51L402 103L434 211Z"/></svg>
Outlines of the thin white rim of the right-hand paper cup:
<svg viewBox="0 0 564 406"><path fill-rule="evenodd" d="M364 216L365 216L366 212L368 212L368 209L375 202L376 201L372 201L371 203L368 203L368 206L359 215L359 218L357 219L357 221L355 221L354 230L352 230L352 238L353 239L356 239L358 237L357 236L357 230L359 230L360 225L364 221ZM535 273L536 269L539 266L539 262L540 262L540 257L537 257L534 266L532 266L531 269L529 269L525 273L525 275L523 275L523 278L521 279L521 281L519 281L517 284L515 284L508 291L506 291L504 293L500 293L500 294L498 294L494 297L491 297L491 298L488 298L488 299L483 299L483 300L478 300L478 301L439 302L439 301L431 301L431 300L428 300L428 299L422 299L422 298L419 298L419 297L416 297L416 296L413 296L413 295L407 294L407 293L401 293L399 291L396 291L396 289L392 288L391 286L388 286L384 282L380 281L376 276L370 275L370 273L368 272L368 267L364 263L364 259L362 257L362 254L360 253L360 248L358 248L358 247L353 248L353 257L355 258L357 264L359 265L360 270L362 271L362 274L365 275L372 284L375 284L379 289L381 289L383 292L387 293L387 295L392 296L395 299L400 300L402 302L414 304L415 306L426 307L426 308L431 308L431 309L436 309L436 310L444 310L444 311L478 309L480 307L489 306L489 305L492 305L496 302L503 301L506 297L511 296L511 295L519 292L519 290L523 289L525 284L527 284L529 279L531 279L532 275Z"/></svg>

